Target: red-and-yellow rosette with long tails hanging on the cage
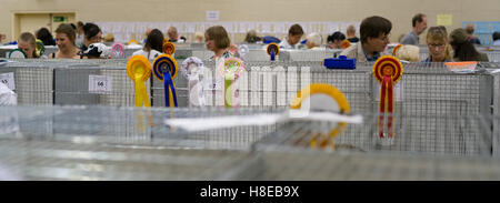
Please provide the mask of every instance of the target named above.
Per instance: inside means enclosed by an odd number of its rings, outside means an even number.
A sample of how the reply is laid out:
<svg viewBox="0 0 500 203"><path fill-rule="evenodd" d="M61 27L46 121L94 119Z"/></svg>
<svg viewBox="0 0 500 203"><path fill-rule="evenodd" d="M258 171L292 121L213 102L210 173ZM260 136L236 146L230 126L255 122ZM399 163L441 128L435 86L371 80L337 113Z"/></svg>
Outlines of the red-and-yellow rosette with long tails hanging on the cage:
<svg viewBox="0 0 500 203"><path fill-rule="evenodd" d="M384 138L383 131L383 120L387 110L388 121L387 121L387 135L392 138L392 115L394 112L394 85L401 79L403 73L403 68L401 62L390 55L381 57L373 64L373 77L381 84L380 89L380 104L379 104L379 136ZM387 109L386 109L387 104Z"/></svg>

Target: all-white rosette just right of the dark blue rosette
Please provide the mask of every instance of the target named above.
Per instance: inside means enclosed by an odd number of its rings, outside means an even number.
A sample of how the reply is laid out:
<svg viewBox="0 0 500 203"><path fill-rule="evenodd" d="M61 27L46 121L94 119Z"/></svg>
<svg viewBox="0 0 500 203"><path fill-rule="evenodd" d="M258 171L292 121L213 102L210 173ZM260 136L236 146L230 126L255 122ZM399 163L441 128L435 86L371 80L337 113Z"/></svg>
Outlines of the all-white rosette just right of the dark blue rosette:
<svg viewBox="0 0 500 203"><path fill-rule="evenodd" d="M190 57L182 62L181 73L188 79L189 106L203 106L203 62L196 57Z"/></svg>

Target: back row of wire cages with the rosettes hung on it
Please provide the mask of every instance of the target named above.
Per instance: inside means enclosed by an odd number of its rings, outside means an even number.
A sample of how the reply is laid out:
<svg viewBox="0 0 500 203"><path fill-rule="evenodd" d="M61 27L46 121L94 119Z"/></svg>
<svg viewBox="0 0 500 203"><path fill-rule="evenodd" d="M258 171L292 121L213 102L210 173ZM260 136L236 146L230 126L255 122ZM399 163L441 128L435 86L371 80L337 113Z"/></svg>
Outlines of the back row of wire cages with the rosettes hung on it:
<svg viewBox="0 0 500 203"><path fill-rule="evenodd" d="M208 106L224 105L222 77L216 62L203 61L206 71L199 87ZM181 61L178 61L181 64ZM19 104L133 106L133 82L127 75L127 60L22 60L7 63L0 73L13 73ZM356 70L329 70L321 62L246 62L234 82L239 106L284 108L297 92L311 83L328 83L347 97L352 111L378 108L380 84L371 63ZM498 63L480 63L474 73L459 74L443 63L404 64L396 87L396 106L411 114L490 114L498 106ZM181 71L179 71L181 72ZM106 92L89 89L89 77L103 75L111 81ZM174 79L179 106L189 106L193 92L181 73ZM153 75L146 82L153 106L164 106L163 82Z"/></svg>

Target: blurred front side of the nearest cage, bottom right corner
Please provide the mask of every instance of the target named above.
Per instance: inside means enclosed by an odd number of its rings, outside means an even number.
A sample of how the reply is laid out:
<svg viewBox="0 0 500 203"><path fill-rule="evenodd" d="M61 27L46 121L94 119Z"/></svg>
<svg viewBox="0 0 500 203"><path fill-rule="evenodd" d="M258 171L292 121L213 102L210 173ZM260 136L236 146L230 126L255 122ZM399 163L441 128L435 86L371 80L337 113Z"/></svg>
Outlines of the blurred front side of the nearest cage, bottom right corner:
<svg viewBox="0 0 500 203"><path fill-rule="evenodd" d="M494 181L500 161L397 153L262 152L231 170L239 181Z"/></svg>

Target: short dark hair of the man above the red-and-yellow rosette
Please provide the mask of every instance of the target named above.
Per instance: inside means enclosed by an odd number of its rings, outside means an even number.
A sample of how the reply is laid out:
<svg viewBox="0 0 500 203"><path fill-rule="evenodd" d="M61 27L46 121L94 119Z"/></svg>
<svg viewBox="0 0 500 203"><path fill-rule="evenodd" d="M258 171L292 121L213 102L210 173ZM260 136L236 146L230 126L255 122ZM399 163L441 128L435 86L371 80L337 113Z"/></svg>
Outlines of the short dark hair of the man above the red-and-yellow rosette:
<svg viewBox="0 0 500 203"><path fill-rule="evenodd" d="M391 21L373 16L366 18L359 28L361 34L361 42L367 42L368 38L378 38L381 33L389 34L392 29Z"/></svg>

